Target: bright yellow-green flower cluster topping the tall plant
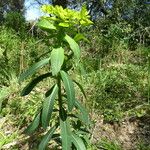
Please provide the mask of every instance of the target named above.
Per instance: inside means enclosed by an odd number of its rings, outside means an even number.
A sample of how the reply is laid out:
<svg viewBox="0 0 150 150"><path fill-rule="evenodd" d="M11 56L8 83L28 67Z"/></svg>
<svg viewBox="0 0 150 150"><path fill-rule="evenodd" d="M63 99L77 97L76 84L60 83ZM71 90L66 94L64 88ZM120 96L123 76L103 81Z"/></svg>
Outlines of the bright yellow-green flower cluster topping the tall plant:
<svg viewBox="0 0 150 150"><path fill-rule="evenodd" d="M62 6L43 5L42 11L49 14L49 17L45 17L52 23L62 27L71 27L74 25L88 26L93 24L90 21L90 16L85 6L81 11L71 10L68 8L63 9Z"/></svg>

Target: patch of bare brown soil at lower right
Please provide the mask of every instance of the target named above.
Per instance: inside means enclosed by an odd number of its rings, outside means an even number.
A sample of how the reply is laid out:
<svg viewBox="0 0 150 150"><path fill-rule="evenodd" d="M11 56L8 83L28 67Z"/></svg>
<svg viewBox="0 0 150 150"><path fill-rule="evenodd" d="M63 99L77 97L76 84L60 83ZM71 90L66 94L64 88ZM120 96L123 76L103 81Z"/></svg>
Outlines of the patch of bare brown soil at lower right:
<svg viewBox="0 0 150 150"><path fill-rule="evenodd" d="M95 116L95 120L93 143L106 138L119 142L123 150L137 150L140 142L150 146L150 116L127 118L120 123L105 123L101 116Z"/></svg>

